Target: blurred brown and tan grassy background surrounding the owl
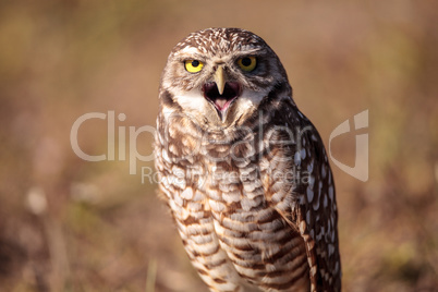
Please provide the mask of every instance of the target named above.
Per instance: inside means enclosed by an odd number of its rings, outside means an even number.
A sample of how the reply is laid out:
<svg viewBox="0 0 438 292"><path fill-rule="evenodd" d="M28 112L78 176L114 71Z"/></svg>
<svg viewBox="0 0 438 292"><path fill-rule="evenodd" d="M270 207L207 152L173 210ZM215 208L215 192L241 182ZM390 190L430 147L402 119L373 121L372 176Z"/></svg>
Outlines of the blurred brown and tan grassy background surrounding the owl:
<svg viewBox="0 0 438 292"><path fill-rule="evenodd" d="M331 163L344 291L437 291L437 19L427 0L1 1L0 291L207 291L129 146L151 154L130 131L155 125L172 47L218 26L272 47L327 147L369 112L369 180ZM105 161L72 149L92 112L77 142ZM355 134L331 143L352 167Z"/></svg>

